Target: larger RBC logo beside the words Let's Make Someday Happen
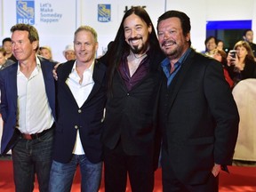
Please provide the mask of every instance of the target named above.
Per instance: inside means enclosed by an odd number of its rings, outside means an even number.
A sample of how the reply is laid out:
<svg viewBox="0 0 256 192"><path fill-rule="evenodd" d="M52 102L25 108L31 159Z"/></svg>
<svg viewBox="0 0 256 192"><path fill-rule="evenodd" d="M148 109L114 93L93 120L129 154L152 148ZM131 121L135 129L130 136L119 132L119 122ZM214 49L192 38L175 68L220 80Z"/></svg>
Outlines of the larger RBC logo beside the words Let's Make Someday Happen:
<svg viewBox="0 0 256 192"><path fill-rule="evenodd" d="M35 24L35 2L34 0L17 0L16 1L17 23L29 25Z"/></svg>

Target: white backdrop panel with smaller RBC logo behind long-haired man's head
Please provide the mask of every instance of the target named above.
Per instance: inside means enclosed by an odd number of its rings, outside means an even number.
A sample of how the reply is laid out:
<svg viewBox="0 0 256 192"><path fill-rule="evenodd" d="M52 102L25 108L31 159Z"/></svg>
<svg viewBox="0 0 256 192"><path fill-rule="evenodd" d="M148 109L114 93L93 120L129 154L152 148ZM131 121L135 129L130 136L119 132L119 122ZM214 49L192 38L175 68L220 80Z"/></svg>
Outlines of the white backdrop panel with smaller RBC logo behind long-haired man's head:
<svg viewBox="0 0 256 192"><path fill-rule="evenodd" d="M114 40L125 10L130 9L132 6L143 6L148 12L153 25L156 28L157 18L164 12L164 2L164 0L158 0L157 2L156 0L82 0L81 5L83 6L83 12L81 12L80 22L83 25L92 26L92 28L95 28L98 32L98 55L101 55L102 51L104 52L106 49L108 43ZM107 12L105 19L104 14L102 13L102 7L104 7L104 5L107 9L105 10ZM101 9L99 9L99 6ZM110 12L110 18L108 18L108 12ZM99 17L101 18L100 20Z"/></svg>

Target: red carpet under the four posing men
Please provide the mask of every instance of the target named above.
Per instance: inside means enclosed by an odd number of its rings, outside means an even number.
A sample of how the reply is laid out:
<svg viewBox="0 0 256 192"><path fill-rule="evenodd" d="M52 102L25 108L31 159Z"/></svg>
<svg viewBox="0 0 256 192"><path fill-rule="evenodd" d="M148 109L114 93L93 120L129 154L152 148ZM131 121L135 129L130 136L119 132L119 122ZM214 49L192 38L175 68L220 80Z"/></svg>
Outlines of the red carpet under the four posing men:
<svg viewBox="0 0 256 192"><path fill-rule="evenodd" d="M231 166L228 168L229 174L220 172L220 192L256 192L256 167ZM35 192L38 192L38 188ZM12 180L12 161L0 161L0 191L13 192L14 183ZM129 184L127 192L131 191ZM161 169L156 171L154 192L161 192ZM80 192L80 172L76 172L71 192ZM100 192L104 192L104 183L101 182Z"/></svg>

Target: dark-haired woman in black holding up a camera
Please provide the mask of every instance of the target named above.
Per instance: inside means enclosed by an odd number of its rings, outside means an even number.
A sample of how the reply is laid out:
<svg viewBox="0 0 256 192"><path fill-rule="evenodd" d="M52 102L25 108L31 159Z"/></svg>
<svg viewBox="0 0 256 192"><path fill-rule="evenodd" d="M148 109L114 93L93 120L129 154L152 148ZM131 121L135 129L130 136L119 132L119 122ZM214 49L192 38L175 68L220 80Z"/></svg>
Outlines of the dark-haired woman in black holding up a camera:
<svg viewBox="0 0 256 192"><path fill-rule="evenodd" d="M235 44L235 57L228 52L228 74L236 85L239 81L247 78L256 78L256 62L251 46L245 41Z"/></svg>

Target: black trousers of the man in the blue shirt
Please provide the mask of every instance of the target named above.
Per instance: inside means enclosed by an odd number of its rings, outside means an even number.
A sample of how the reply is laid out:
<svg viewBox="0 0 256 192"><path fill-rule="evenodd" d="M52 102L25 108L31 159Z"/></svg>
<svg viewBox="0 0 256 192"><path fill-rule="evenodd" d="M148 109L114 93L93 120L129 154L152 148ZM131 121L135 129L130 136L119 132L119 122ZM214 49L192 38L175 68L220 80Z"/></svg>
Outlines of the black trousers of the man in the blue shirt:
<svg viewBox="0 0 256 192"><path fill-rule="evenodd" d="M175 158L175 156L173 157ZM162 181L164 192L218 192L219 191L219 176L214 177L210 174L208 180L200 185L188 185L178 180L175 173L172 171L170 162L172 157L167 155L166 150L162 149Z"/></svg>

